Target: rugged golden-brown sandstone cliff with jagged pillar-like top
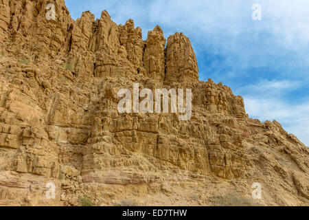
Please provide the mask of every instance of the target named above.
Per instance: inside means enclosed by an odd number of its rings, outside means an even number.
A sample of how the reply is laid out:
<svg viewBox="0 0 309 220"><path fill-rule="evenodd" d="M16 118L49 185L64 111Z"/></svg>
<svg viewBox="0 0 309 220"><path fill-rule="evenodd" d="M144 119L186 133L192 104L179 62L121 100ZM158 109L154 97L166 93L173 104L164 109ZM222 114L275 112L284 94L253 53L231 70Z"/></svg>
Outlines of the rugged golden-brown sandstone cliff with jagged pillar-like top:
<svg viewBox="0 0 309 220"><path fill-rule="evenodd" d="M184 34L165 47L159 26L144 41L106 11L73 21L62 0L3 0L0 44L0 205L309 204L308 147L249 118L229 87L199 81ZM192 118L119 113L117 92L133 83L192 89Z"/></svg>

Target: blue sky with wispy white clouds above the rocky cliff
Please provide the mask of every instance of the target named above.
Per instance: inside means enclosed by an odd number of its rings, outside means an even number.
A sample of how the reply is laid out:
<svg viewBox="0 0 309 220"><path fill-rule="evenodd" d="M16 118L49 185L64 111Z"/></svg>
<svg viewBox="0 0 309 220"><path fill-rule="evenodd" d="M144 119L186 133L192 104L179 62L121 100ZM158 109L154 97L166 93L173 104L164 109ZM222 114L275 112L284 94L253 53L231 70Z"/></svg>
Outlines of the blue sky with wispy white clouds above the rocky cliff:
<svg viewBox="0 0 309 220"><path fill-rule="evenodd" d="M73 19L90 10L128 19L143 30L160 25L190 38L200 80L212 78L244 97L251 118L277 120L309 146L308 0L65 0ZM262 6L253 21L252 5Z"/></svg>

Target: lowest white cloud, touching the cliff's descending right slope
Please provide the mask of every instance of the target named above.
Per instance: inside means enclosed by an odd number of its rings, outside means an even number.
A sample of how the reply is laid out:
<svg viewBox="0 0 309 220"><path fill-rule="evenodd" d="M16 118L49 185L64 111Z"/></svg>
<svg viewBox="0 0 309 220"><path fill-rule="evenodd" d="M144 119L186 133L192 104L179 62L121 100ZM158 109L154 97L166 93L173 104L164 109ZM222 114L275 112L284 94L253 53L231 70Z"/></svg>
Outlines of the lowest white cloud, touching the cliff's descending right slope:
<svg viewBox="0 0 309 220"><path fill-rule="evenodd" d="M309 99L293 104L284 98L303 84L293 80L262 80L239 88L236 93L244 95L244 107L251 118L277 120L288 133L297 135L309 146Z"/></svg>

